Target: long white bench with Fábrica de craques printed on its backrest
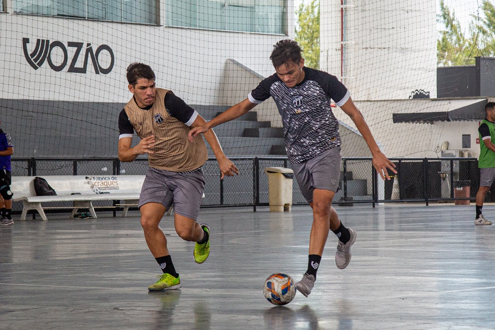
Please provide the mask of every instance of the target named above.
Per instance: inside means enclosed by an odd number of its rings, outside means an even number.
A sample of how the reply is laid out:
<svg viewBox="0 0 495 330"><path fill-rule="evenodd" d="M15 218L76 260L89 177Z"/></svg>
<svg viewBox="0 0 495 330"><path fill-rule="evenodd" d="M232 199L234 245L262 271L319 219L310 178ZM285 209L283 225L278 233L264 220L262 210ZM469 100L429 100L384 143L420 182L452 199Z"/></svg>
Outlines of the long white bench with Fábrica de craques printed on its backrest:
<svg viewBox="0 0 495 330"><path fill-rule="evenodd" d="M13 176L10 189L12 201L22 201L21 220L26 220L29 210L36 210L43 220L48 220L42 203L73 202L71 217L80 208L89 209L96 217L93 201L123 201L122 217L127 215L131 206L136 206L143 185L144 175L43 175L48 184L54 188L56 196L36 196L34 176ZM75 194L75 195L72 195ZM67 209L70 207L46 207ZM171 211L171 210L169 210Z"/></svg>

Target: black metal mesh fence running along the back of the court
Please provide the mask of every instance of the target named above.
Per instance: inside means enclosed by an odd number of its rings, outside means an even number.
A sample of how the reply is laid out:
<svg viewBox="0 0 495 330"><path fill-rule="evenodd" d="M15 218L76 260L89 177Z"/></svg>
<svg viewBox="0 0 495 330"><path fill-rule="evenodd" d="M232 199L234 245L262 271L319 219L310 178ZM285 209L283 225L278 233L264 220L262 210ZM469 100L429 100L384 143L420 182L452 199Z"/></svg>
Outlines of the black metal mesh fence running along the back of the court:
<svg viewBox="0 0 495 330"><path fill-rule="evenodd" d="M205 195L202 207L231 207L269 205L268 176L265 167L290 167L285 157L231 158L240 174L220 180L215 159L204 165ZM397 175L382 180L373 169L371 158L342 159L340 189L334 204L432 201L468 203L475 200L479 186L476 158L402 158L391 159ZM148 167L147 159L123 163L116 158L57 159L14 158L12 176L25 175L142 175ZM293 180L292 205L307 204L296 180ZM491 199L490 194L487 197ZM101 201L96 207L112 207L115 203ZM51 206L47 203L47 206ZM60 206L60 204L58 204ZM22 210L14 202L14 212Z"/></svg>

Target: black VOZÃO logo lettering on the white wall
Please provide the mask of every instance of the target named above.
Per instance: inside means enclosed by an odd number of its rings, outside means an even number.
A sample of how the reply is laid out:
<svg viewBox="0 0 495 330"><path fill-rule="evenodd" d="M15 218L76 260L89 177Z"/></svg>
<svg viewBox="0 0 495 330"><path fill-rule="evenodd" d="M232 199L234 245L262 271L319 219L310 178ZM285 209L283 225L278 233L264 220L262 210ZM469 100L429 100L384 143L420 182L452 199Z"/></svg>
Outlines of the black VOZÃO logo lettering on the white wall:
<svg viewBox="0 0 495 330"><path fill-rule="evenodd" d="M24 57L26 57L27 62L29 63L29 65L33 67L33 69L37 70L38 68L40 68L43 65L43 63L45 63L45 60L48 62L48 65L50 65L50 67L54 71L61 71L67 65L68 62L67 48L60 41L50 42L50 40L48 39L37 39L36 46L34 47L34 50L31 53L29 53L28 51L28 44L29 44L29 38L22 38L22 49L24 51ZM62 61L60 64L55 64L54 61L52 60L52 52L56 47L58 47L63 54ZM96 74L100 74L100 73L108 74L113 69L115 56L113 55L113 51L108 45L100 45L96 49L96 52L93 52L93 47L91 46L90 43L87 43L86 53L84 55L83 67L76 67L76 63L77 63L77 59L79 58L79 55L81 54L81 50L84 47L84 43L69 41L67 42L67 47L75 48L67 72L86 73L86 70L88 68L88 59L90 57ZM110 55L110 64L106 68L102 67L99 60L99 56L103 51L108 52L108 54Z"/></svg>

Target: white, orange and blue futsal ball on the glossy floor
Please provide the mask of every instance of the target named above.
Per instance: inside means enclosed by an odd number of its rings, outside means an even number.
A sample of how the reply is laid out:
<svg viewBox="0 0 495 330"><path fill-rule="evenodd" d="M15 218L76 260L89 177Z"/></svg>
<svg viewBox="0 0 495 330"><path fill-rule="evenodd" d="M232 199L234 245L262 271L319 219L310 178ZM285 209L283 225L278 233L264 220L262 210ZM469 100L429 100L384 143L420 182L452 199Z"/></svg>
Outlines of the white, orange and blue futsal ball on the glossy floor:
<svg viewBox="0 0 495 330"><path fill-rule="evenodd" d="M296 295L296 283L287 274L276 273L268 276L263 288L263 294L272 304L286 305Z"/></svg>

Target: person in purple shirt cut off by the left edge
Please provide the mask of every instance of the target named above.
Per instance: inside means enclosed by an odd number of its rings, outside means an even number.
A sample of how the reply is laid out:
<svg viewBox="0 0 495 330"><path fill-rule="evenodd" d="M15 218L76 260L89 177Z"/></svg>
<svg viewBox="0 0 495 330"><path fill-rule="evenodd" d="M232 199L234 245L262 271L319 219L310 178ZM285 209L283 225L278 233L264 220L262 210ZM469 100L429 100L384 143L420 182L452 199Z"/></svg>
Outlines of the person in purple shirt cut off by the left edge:
<svg viewBox="0 0 495 330"><path fill-rule="evenodd" d="M0 225L14 223L11 216L12 194L7 194L10 192L10 156L13 152L10 135L0 128Z"/></svg>

